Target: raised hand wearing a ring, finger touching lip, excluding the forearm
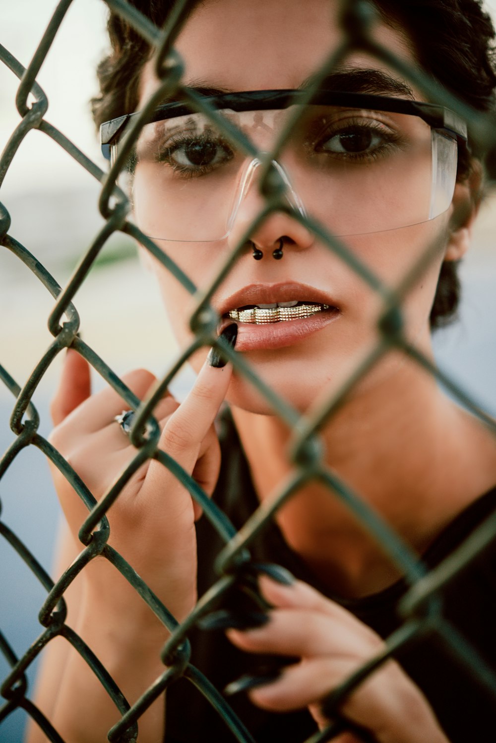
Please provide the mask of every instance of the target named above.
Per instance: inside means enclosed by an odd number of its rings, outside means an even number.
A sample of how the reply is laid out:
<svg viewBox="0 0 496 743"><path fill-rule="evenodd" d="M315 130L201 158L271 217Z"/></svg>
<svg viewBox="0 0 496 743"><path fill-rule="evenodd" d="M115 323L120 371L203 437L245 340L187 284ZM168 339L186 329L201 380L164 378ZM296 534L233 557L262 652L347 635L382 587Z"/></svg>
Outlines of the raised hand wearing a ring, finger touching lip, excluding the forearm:
<svg viewBox="0 0 496 743"><path fill-rule="evenodd" d="M167 395L154 409L161 429L159 448L192 474L209 494L220 467L213 423L230 376L230 366L214 368L206 362L181 405ZM138 370L126 374L123 381L143 399L155 379L149 371ZM59 392L53 400L56 428L50 441L97 500L137 455L114 421L126 407L110 388L91 397L88 364L75 351L68 351ZM77 540L88 510L59 470L53 465L51 468L62 508ZM151 459L125 484L107 515L111 526L109 544L131 563L177 619L183 619L196 600L194 522L200 516L188 491L163 464ZM106 603L112 598L119 604L121 586L115 585L116 572L113 566L97 559L82 575L94 598L101 600L105 596Z"/></svg>

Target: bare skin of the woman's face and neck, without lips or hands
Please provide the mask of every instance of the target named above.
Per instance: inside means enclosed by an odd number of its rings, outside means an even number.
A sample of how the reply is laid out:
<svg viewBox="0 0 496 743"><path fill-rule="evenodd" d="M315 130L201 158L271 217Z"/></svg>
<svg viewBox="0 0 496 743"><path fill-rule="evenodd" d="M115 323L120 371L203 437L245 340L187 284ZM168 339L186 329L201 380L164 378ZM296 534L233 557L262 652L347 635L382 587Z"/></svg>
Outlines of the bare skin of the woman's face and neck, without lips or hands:
<svg viewBox="0 0 496 743"><path fill-rule="evenodd" d="M329 49L339 43L336 25L319 21L328 10L326 2L317 0L304 5L287 3L284 14L277 1L206 3L193 14L177 39L177 48L186 62L186 80L228 90L298 87L322 63ZM275 27L278 33L273 33ZM239 33L231 33L232 28ZM401 30L379 24L375 33L388 49L415 63L414 51ZM221 56L219 48L223 50ZM380 69L394 77L377 60L363 54L353 53L345 64L347 68ZM155 86L150 63L143 73L142 101ZM437 219L346 240L356 256L390 286L397 285L426 249L432 250L431 264L403 305L406 334L428 357L432 354L428 315L440 265L443 259L460 259L469 247L471 224L477 212L473 195L476 191L475 180L459 182L451 207ZM260 206L261 197L252 189L226 244L160 241L160 247L195 283L208 285L226 252L247 230ZM332 229L332 219L329 227ZM275 262L269 256L281 236L287 236L292 243L285 248L284 260ZM252 234L252 241L268 254L267 258L254 261L247 248L216 293L213 305L220 309L232 293L258 283L298 280L329 293L341 311L336 322L276 352L244 353L255 372L293 406L301 412L317 409L376 343L379 298L356 273L287 215L271 215ZM188 326L192 306L189 296L159 265L148 256L144 259L157 274L178 343L184 346L192 338ZM177 311L179 307L184 314ZM200 363L201 358L193 360L197 368ZM290 432L270 415L267 403L260 400L249 382L236 374L227 399L234 406L258 495L261 500L267 499L290 469L284 455ZM398 400L402 404L400 417ZM419 551L467 502L491 487L495 478L492 438L448 403L431 377L394 352L387 354L353 389L322 435L328 464ZM453 461L457 463L455 467ZM474 461L482 467L480 477L475 479L470 464ZM377 477L379 472L383 477ZM405 494L401 502L397 499L399 491ZM339 503L329 499L327 490L309 486L307 492L298 493L278 513L277 519L290 545L324 581L329 580L332 566L330 588L362 594L378 590L397 576L371 539L364 537L362 528Z"/></svg>

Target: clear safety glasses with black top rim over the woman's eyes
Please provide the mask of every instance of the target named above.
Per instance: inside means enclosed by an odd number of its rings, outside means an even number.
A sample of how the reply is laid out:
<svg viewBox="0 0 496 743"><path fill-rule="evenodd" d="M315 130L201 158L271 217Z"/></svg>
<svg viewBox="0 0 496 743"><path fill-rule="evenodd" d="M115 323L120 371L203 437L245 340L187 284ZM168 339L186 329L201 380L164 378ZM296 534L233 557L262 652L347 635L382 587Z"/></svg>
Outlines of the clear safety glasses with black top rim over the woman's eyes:
<svg viewBox="0 0 496 743"><path fill-rule="evenodd" d="M338 236L383 232L437 217L451 204L457 147L466 125L443 106L320 91L251 91L209 97L260 153L270 152L298 111L273 166L287 202ZM102 152L114 160L131 117L102 124ZM134 216L156 240L219 241L238 218L261 208L259 158L247 157L209 117L168 103L143 126L127 169Z"/></svg>

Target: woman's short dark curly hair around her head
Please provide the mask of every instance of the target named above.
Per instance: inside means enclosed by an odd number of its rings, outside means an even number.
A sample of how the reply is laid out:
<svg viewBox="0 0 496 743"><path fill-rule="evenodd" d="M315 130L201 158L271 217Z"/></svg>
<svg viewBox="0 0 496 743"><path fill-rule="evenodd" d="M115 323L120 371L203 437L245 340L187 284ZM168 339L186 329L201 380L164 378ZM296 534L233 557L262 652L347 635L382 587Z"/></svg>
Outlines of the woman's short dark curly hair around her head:
<svg viewBox="0 0 496 743"><path fill-rule="evenodd" d="M158 27L164 25L174 0L128 0ZM239 0L241 1L241 0ZM189 12L199 0L189 2ZM478 111L495 107L495 29L481 0L373 0L388 25L405 28L421 67ZM111 13L108 19L111 53L99 63L100 92L91 100L97 127L137 108L143 65L149 44L127 22ZM469 156L461 158L458 178L471 171ZM431 328L448 324L457 314L460 282L457 262L445 261L431 308Z"/></svg>

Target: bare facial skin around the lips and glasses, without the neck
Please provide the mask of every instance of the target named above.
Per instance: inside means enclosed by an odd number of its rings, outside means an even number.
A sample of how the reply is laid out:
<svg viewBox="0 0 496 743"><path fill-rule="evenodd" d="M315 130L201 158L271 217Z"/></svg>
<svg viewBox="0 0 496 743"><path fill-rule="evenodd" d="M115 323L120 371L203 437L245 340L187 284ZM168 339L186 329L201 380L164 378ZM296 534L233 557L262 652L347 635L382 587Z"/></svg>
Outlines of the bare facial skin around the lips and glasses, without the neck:
<svg viewBox="0 0 496 743"><path fill-rule="evenodd" d="M186 80L201 80L212 87L235 91L296 88L310 77L327 56L329 49L335 48L339 42L336 27L317 20L326 17L328 12L328 4L325 2L315 2L310 7L290 4L284 13L284 19L281 19L277 3L266 7L255 1L244 4L243 8L232 2L206 4L194 13L177 41L178 51L186 59ZM238 34L226 33L226 27L238 25L246 30L241 38ZM278 28L279 33L273 33L274 27ZM381 25L377 36L399 56L414 62L413 53L399 33ZM219 48L223 49L221 58L217 53ZM246 64L248 48L249 65ZM288 49L291 50L290 55L287 53ZM229 60L229 64L225 64L224 60ZM357 53L347 58L346 65L382 68L376 60ZM151 94L155 85L150 64L143 74L142 101ZM469 195L466 189L459 187L455 202L460 204L467 198ZM159 243L160 247L179 262L195 283L207 285L209 279L215 276L229 248L237 243L260 210L261 204L260 196L252 189L226 244L168 244L162 241ZM463 236L459 244L448 248L447 227L450 216L448 213L434 222L418 227L347 240L359 259L388 285L395 285L405 275L428 244L438 245L437 256L430 270L405 305L409 334L425 351L430 348L426 319L434 298L443 256L448 251L449 257L459 258L468 245L468 236ZM332 222L329 226L332 227ZM223 299L246 285L282 282L296 277L304 284L330 293L334 303L342 311L339 322L333 323L304 344L281 349L276 357L275 354L264 351L249 354L249 361L255 364L256 371L264 381L276 387L281 395L290 398L298 409L304 411L322 391L322 386L326 386L328 392L336 389L362 358L365 349L376 341L375 320L380 304L376 293L355 273L337 257L330 255L304 227L286 215L271 216L252 236L252 240L262 250L271 253L281 236L294 241L293 245L286 248L284 261L273 262L266 259L255 262L252 260L252 251L247 250L218 291L214 306L219 307ZM405 244L408 245L408 250L405 250ZM394 260L391 260L391 256L394 256ZM169 280L165 272L158 270L158 279L174 332L183 345L191 337L187 314L178 313L175 308L187 309L191 306L189 297L176 282ZM374 374L368 378L367 385L388 379L397 366L397 359L390 357L381 367L376 368ZM293 383L293 380L301 377L305 378L304 386ZM258 400L249 384L237 377L229 390L229 400L242 408L270 412L267 404Z"/></svg>

